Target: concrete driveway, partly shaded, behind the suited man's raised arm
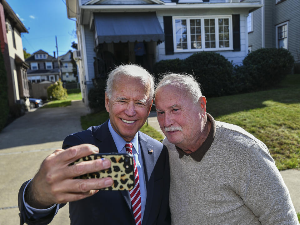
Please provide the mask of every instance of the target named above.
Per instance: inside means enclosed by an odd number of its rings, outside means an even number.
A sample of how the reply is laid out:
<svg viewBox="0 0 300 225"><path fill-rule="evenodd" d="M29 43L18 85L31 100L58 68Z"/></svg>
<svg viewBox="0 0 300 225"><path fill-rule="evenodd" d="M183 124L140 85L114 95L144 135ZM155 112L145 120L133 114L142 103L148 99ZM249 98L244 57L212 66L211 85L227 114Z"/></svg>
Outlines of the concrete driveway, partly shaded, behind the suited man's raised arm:
<svg viewBox="0 0 300 225"><path fill-rule="evenodd" d="M0 225L20 223L17 195L22 183L35 175L44 158L62 147L65 137L82 130L80 116L87 113L82 101L73 101L68 107L28 112L2 130ZM59 210L51 224L70 224L68 205Z"/></svg>

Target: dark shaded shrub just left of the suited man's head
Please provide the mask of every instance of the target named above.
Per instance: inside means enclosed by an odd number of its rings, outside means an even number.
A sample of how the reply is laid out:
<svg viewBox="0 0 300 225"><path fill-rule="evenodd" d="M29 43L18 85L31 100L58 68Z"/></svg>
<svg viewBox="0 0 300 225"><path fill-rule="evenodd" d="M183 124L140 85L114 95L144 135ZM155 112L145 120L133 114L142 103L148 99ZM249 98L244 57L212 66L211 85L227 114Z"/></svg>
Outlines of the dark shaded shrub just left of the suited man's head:
<svg viewBox="0 0 300 225"><path fill-rule="evenodd" d="M94 87L88 92L88 105L95 112L105 110L105 86L106 80L98 78L94 80Z"/></svg>

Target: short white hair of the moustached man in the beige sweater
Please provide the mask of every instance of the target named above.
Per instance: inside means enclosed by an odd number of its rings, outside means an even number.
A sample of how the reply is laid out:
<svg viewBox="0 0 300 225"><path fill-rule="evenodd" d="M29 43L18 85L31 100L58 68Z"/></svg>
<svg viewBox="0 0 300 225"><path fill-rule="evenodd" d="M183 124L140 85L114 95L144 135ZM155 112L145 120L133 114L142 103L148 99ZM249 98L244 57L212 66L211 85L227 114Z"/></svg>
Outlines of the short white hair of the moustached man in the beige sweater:
<svg viewBox="0 0 300 225"><path fill-rule="evenodd" d="M156 96L159 88L173 85L177 88L184 90L192 99L193 102L197 102L202 96L201 85L196 81L196 79L187 73L165 73L162 75L161 81L157 84L154 96Z"/></svg>

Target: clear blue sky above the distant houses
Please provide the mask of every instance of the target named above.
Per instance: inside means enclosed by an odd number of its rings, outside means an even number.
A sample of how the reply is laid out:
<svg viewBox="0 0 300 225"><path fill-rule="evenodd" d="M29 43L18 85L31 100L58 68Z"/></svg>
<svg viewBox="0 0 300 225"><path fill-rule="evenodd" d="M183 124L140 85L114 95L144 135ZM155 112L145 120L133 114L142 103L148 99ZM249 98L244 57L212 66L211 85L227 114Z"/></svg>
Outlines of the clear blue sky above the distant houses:
<svg viewBox="0 0 300 225"><path fill-rule="evenodd" d="M6 0L24 23L29 33L22 33L23 47L30 54L42 49L53 56L73 50L71 43L77 38L76 22L68 19L65 0ZM74 18L73 18L74 19ZM57 55L56 55L57 57Z"/></svg>

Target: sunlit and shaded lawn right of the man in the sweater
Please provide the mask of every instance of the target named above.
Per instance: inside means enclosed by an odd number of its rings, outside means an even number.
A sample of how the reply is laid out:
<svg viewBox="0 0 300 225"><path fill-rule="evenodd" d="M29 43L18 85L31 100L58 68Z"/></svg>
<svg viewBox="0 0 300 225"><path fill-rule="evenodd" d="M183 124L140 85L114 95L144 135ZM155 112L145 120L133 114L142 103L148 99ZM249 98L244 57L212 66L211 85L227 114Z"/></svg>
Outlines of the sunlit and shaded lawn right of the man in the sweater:
<svg viewBox="0 0 300 225"><path fill-rule="evenodd" d="M279 170L300 168L300 75L272 90L208 98L207 112L265 143Z"/></svg>

